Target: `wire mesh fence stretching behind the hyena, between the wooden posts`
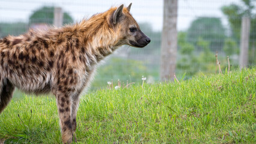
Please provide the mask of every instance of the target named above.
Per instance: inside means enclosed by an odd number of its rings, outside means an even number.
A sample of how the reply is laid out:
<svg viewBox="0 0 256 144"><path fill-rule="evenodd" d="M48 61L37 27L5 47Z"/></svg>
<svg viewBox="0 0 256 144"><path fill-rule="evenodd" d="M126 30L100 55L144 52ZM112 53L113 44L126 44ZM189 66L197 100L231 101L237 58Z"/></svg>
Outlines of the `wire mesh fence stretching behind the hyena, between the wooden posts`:
<svg viewBox="0 0 256 144"><path fill-rule="evenodd" d="M247 2L247 3L246 3ZM53 24L55 7L64 11L63 23L81 19L108 10L111 6L130 4L130 1L82 0L2 0L0 1L0 37L20 35L29 28L46 28ZM248 65L256 64L256 8L255 1L178 1L178 47L176 75L186 79L203 73L216 73L216 53L222 70L239 67L242 17L251 20ZM159 80L160 44L163 25L163 1L133 1L131 13L142 31L151 38L144 49L123 46L107 58L97 71L93 88L108 85L113 80L121 83ZM184 74L186 73L186 74Z"/></svg>

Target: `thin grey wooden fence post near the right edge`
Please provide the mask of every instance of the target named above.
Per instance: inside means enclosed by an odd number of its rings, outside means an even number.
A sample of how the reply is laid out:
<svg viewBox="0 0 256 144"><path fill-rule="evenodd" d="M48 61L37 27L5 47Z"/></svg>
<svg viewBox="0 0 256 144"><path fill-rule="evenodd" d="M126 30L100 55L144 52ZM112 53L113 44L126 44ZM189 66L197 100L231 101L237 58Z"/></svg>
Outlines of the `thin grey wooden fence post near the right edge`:
<svg viewBox="0 0 256 144"><path fill-rule="evenodd" d="M240 58L239 65L240 69L248 65L248 49L249 49L249 38L250 38L250 18L242 18L241 38L240 38Z"/></svg>

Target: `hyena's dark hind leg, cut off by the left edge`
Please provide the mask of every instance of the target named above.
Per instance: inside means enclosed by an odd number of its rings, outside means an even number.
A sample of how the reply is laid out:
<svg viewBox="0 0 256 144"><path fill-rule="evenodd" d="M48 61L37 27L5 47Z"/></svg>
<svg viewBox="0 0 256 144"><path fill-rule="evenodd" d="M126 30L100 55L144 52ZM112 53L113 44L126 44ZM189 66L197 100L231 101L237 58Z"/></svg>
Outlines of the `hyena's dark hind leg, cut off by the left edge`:
<svg viewBox="0 0 256 144"><path fill-rule="evenodd" d="M0 113L13 97L15 86L8 80L0 76Z"/></svg>

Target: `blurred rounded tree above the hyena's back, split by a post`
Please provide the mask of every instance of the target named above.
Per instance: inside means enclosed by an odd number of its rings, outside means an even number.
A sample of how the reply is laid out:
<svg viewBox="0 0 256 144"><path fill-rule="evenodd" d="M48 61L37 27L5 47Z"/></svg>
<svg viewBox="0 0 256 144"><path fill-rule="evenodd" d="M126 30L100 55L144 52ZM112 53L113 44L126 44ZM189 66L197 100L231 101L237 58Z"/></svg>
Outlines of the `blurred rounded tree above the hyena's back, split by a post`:
<svg viewBox="0 0 256 144"><path fill-rule="evenodd" d="M47 23L52 25L53 24L53 17L54 17L54 7L42 7L36 10L31 16L29 17L29 25L32 23ZM63 25L67 23L72 23L72 17L64 12L63 13Z"/></svg>

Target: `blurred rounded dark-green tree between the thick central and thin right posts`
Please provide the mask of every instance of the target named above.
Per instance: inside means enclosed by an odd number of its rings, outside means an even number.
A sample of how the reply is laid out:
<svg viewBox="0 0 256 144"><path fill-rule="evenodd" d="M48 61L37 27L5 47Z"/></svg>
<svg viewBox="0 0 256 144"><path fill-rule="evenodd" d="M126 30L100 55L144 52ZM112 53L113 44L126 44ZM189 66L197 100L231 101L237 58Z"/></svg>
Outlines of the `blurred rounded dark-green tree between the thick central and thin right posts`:
<svg viewBox="0 0 256 144"><path fill-rule="evenodd" d="M225 40L225 28L221 20L216 17L195 19L187 31L187 41L196 46L200 37L209 42L212 51L221 50Z"/></svg>

